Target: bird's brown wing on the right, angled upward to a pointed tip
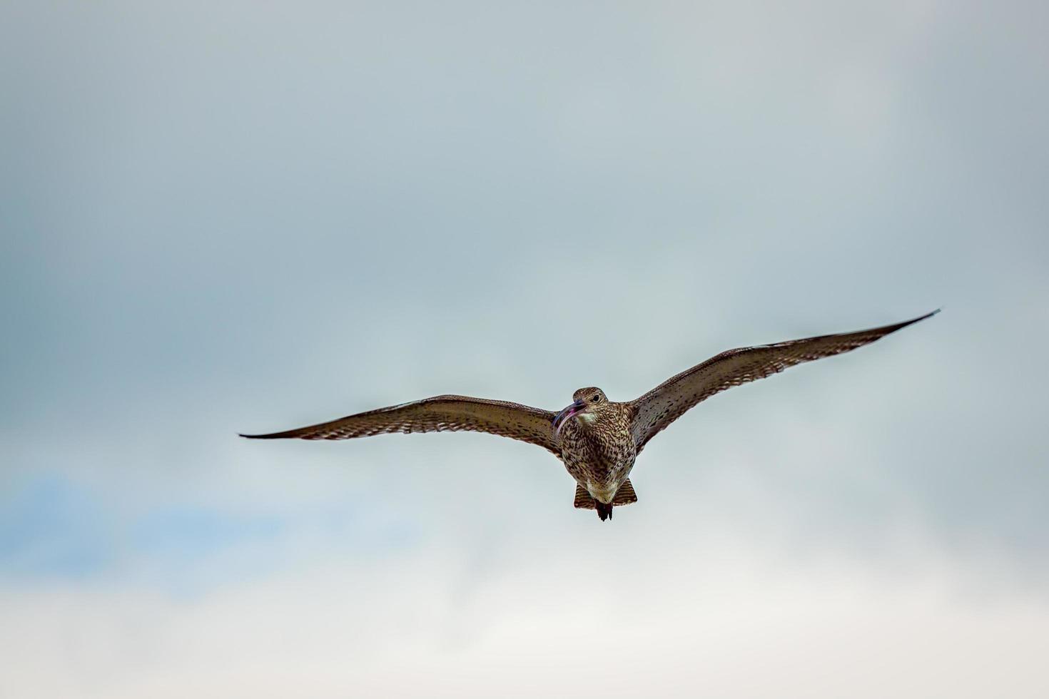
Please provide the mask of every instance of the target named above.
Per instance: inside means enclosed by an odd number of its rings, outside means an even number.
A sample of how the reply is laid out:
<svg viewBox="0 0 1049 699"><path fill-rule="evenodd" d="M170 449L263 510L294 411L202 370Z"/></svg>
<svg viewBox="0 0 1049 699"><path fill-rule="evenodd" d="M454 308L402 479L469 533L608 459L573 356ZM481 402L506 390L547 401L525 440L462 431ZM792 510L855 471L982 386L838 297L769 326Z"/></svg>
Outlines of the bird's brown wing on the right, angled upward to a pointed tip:
<svg viewBox="0 0 1049 699"><path fill-rule="evenodd" d="M741 347L722 352L668 378L630 403L634 409L634 441L640 452L660 430L681 417L689 408L725 389L771 376L796 364L854 350L938 312L940 311L935 310L913 321L870 330L791 340L775 345Z"/></svg>

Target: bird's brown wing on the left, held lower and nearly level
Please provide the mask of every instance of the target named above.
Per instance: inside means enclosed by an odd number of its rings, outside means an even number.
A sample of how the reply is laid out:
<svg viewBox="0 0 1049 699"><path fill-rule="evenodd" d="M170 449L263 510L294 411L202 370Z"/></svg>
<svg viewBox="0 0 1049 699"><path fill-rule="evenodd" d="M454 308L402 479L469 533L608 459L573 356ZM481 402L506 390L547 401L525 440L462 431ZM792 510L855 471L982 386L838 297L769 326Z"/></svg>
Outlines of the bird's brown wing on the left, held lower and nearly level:
<svg viewBox="0 0 1049 699"><path fill-rule="evenodd" d="M554 442L554 413L502 400L468 396L436 396L389 408L349 415L298 430L265 435L240 435L251 439L354 439L390 432L488 432L500 437L538 444L560 456Z"/></svg>

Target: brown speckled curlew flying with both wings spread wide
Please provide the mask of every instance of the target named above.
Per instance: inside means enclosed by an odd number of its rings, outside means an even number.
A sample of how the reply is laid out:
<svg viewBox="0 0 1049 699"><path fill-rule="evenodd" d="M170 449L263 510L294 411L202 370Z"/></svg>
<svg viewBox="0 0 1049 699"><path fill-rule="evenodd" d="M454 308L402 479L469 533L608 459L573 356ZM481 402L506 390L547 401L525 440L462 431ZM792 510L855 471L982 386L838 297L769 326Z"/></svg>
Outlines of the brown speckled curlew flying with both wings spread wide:
<svg viewBox="0 0 1049 699"><path fill-rule="evenodd" d="M355 439L415 432L487 432L536 444L561 460L576 482L573 505L595 509L601 521L613 508L637 502L629 475L657 434L686 411L733 386L771 376L788 367L852 351L923 321L919 318L868 330L740 347L671 376L634 400L609 400L597 387L572 394L559 412L505 400L440 395L379 408L284 432L241 434L249 439Z"/></svg>

